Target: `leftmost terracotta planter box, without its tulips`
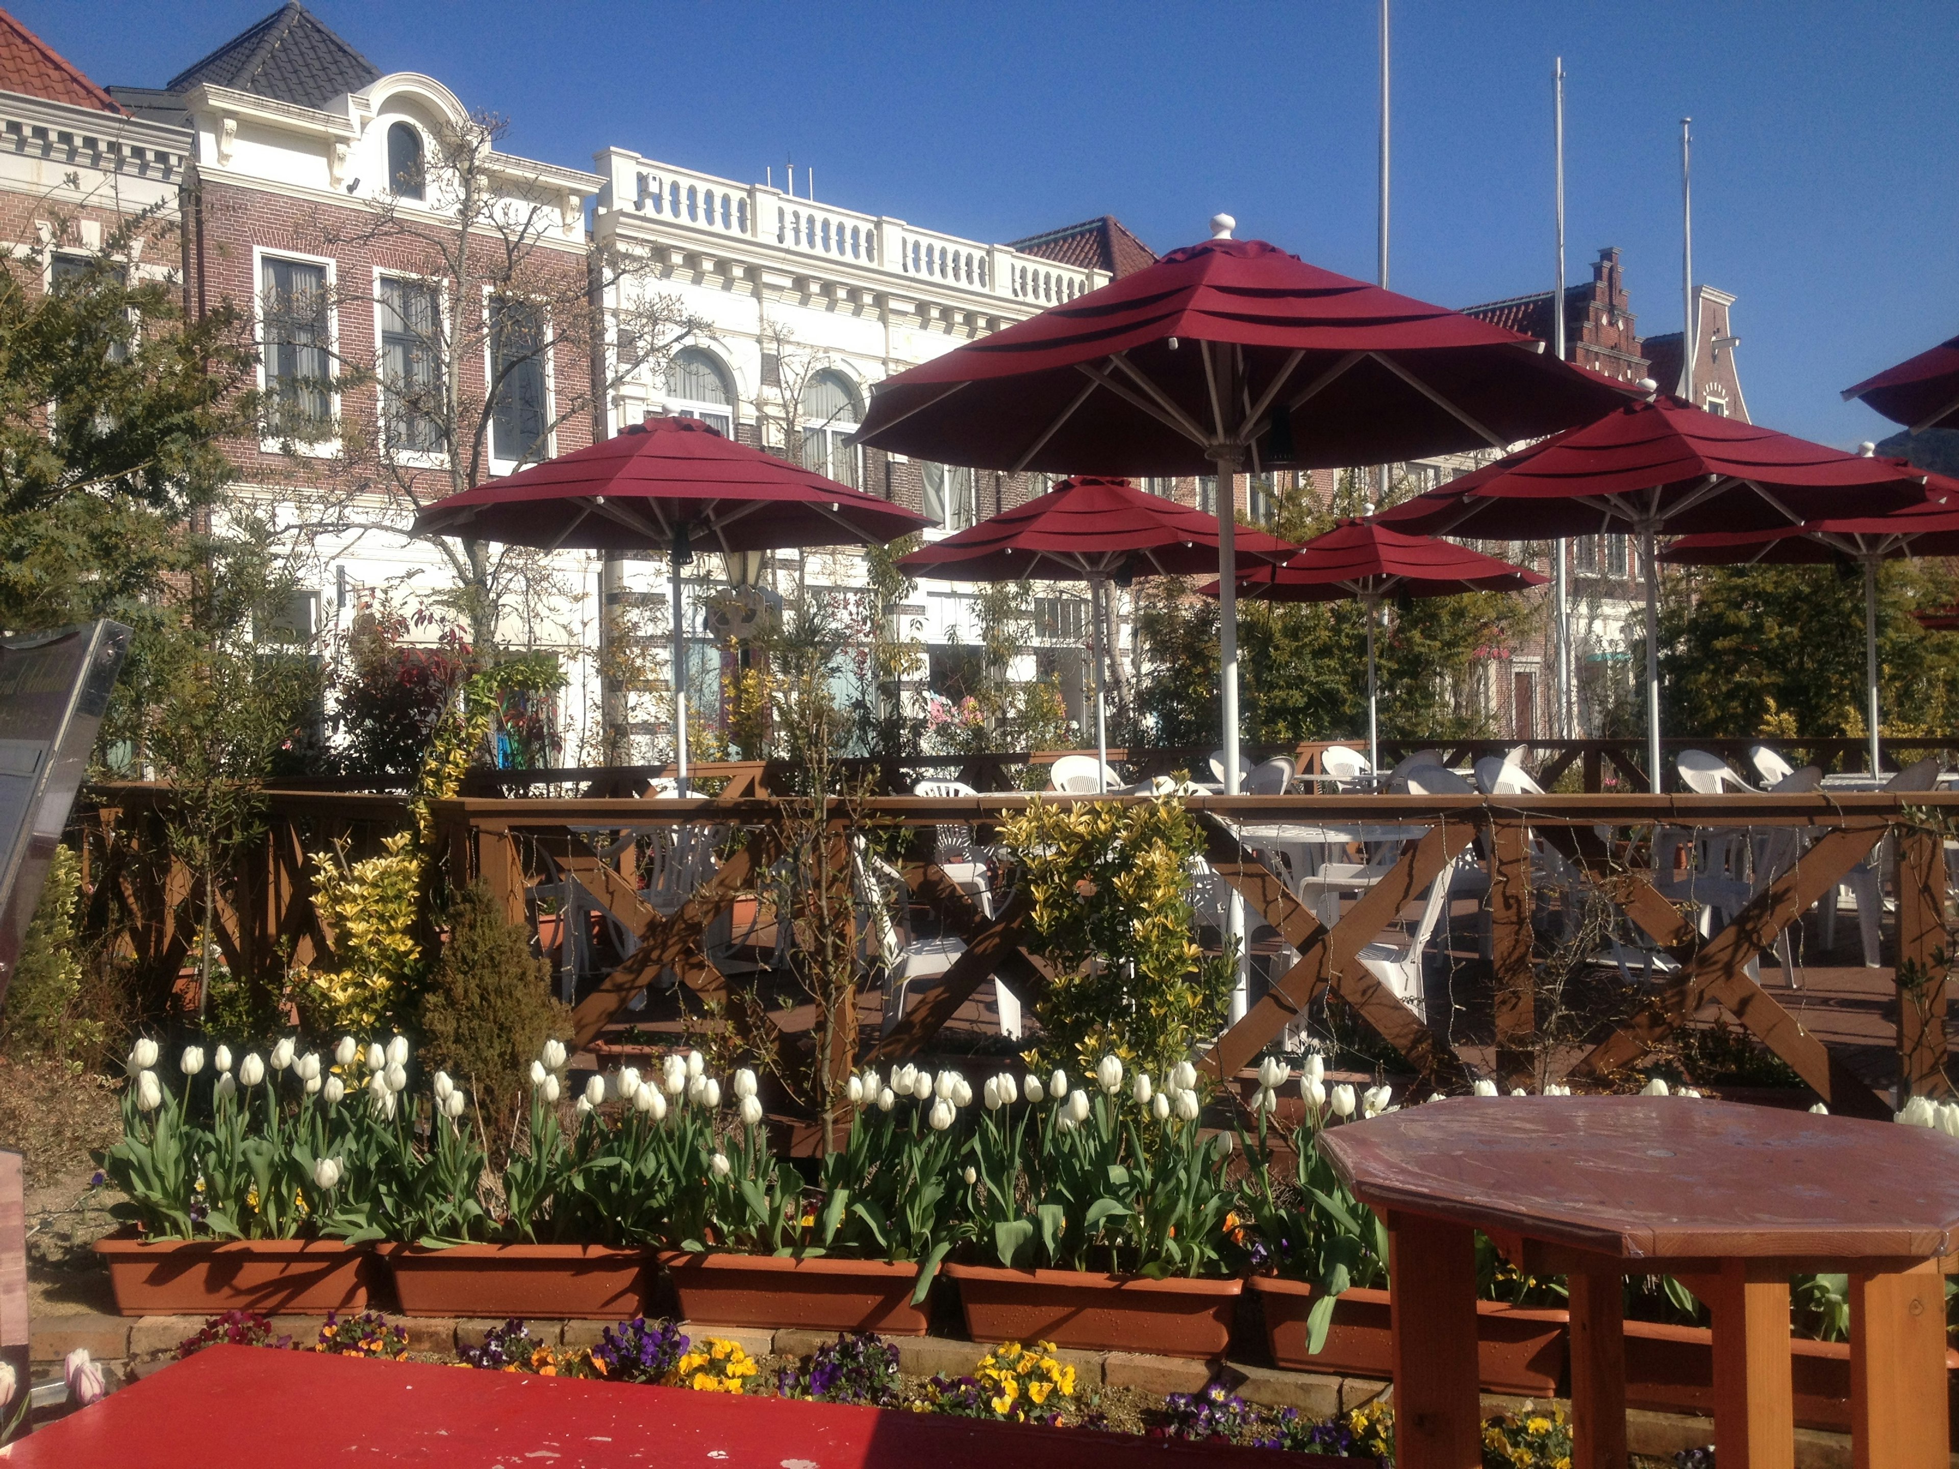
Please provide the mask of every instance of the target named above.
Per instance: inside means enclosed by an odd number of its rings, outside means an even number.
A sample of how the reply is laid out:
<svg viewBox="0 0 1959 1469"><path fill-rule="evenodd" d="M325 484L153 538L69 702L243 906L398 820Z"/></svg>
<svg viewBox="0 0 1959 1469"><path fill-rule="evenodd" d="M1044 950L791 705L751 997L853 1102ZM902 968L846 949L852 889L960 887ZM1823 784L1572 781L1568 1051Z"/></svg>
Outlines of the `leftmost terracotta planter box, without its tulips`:
<svg viewBox="0 0 1959 1469"><path fill-rule="evenodd" d="M123 1316L214 1316L221 1310L364 1310L380 1295L372 1250L339 1240L96 1240Z"/></svg>

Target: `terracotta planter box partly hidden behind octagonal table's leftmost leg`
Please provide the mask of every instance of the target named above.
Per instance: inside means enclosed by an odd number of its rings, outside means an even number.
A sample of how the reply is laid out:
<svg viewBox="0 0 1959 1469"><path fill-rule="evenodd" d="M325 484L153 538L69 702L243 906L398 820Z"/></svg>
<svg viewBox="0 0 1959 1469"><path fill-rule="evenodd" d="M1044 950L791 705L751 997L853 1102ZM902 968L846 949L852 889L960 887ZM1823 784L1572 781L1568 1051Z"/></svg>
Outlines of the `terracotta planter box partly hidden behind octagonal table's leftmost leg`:
<svg viewBox="0 0 1959 1469"><path fill-rule="evenodd" d="M1395 1375L1387 1291L1342 1291L1332 1326L1326 1328L1326 1344L1313 1355L1307 1351L1307 1314L1318 1293L1303 1281L1273 1275L1254 1275L1248 1285L1264 1304L1266 1340L1275 1365L1330 1375ZM1499 1301L1477 1301L1475 1310L1477 1373L1485 1393L1542 1398L1563 1391L1567 1312L1506 1306Z"/></svg>

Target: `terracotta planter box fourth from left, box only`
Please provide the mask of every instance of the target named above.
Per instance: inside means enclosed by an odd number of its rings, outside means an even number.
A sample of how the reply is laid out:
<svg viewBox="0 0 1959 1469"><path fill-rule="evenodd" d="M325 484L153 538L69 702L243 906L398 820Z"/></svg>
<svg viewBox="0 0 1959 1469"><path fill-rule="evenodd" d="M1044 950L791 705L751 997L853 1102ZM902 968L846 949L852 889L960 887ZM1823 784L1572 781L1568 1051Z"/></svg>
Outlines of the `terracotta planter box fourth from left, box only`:
<svg viewBox="0 0 1959 1469"><path fill-rule="evenodd" d="M946 1265L974 1342L1222 1357L1244 1281L1152 1281L1075 1269Z"/></svg>

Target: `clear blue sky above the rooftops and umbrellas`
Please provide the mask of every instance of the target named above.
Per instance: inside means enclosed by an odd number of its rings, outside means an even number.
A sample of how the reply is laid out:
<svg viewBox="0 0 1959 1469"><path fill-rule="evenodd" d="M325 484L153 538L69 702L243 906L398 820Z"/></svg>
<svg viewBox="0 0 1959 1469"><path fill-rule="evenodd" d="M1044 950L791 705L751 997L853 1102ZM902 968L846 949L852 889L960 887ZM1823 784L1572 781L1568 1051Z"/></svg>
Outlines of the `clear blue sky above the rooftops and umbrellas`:
<svg viewBox="0 0 1959 1469"><path fill-rule="evenodd" d="M10 0L96 80L161 84L274 0ZM317 0L384 71L590 166L619 143L1001 241L1115 213L1164 251L1240 235L1373 276L1375 8ZM1463 306L1552 282L1552 57L1567 80L1567 274L1626 255L1642 333L1695 274L1734 292L1753 417L1851 447L1838 390L1959 331L1959 6L1399 0L1393 284Z"/></svg>

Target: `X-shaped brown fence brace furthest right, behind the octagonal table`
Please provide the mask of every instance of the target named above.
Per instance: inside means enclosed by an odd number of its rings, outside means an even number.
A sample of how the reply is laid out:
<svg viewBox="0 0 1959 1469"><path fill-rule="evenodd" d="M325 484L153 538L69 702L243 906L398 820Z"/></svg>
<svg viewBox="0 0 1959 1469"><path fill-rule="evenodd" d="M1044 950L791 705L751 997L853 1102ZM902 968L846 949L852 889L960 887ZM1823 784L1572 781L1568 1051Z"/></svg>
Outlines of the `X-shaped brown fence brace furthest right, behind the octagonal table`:
<svg viewBox="0 0 1959 1469"><path fill-rule="evenodd" d="M1599 1042L1571 1073L1599 1075L1630 1066L1712 999L1789 1062L1834 1113L1888 1116L1888 1105L1745 973L1751 958L1769 948L1818 899L1834 893L1843 874L1883 838L1881 821L1824 834L1789 872L1761 889L1734 923L1702 944L1651 1005Z"/></svg>

